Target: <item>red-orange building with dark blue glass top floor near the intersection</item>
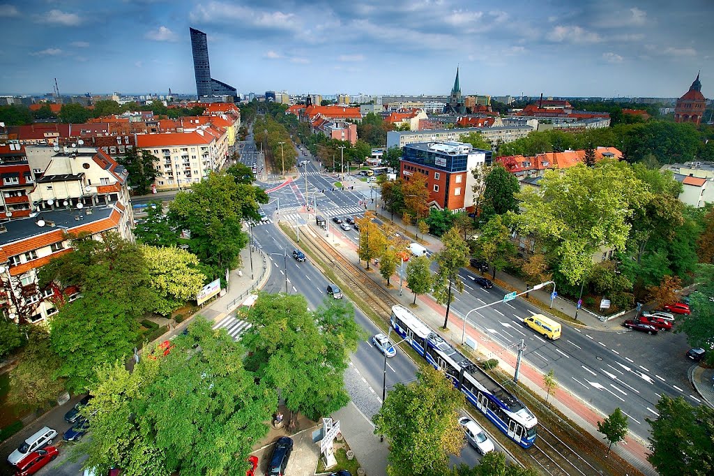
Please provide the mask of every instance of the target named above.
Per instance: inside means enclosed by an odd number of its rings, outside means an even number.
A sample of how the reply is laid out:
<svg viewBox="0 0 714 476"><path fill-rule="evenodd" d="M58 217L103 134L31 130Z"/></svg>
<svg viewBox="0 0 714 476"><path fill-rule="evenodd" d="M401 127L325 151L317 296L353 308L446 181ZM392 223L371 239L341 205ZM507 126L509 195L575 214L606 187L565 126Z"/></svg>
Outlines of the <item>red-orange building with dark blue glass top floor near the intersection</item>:
<svg viewBox="0 0 714 476"><path fill-rule="evenodd" d="M463 142L407 144L402 150L400 177L408 181L413 174L426 177L429 206L452 212L473 209L472 171L490 165L492 152L473 149Z"/></svg>

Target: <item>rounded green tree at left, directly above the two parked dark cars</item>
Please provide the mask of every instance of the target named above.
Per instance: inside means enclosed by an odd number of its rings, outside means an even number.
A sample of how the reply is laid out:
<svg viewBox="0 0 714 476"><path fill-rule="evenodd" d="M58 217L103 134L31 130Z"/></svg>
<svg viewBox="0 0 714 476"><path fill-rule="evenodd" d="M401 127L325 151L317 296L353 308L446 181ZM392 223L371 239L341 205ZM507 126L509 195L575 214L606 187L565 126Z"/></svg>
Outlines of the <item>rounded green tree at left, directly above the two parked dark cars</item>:
<svg viewBox="0 0 714 476"><path fill-rule="evenodd" d="M55 377L66 378L67 390L89 390L96 369L123 362L139 337L139 323L127 302L84 296L64 305L51 319L52 349L61 359Z"/></svg>

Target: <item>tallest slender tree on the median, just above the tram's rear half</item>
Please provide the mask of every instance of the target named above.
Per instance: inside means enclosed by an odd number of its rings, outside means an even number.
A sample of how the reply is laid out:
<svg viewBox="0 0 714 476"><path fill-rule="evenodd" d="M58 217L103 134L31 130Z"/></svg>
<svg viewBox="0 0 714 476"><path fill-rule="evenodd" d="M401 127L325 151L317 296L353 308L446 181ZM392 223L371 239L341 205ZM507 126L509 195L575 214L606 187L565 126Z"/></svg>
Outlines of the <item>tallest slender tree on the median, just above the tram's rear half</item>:
<svg viewBox="0 0 714 476"><path fill-rule="evenodd" d="M451 309L452 290L463 292L463 282L459 271L468 265L468 244L463 241L457 228L452 228L441 239L443 248L434 256L434 261L439 265L439 270L434 279L434 292L436 302L446 303L443 328L448 324L448 314Z"/></svg>

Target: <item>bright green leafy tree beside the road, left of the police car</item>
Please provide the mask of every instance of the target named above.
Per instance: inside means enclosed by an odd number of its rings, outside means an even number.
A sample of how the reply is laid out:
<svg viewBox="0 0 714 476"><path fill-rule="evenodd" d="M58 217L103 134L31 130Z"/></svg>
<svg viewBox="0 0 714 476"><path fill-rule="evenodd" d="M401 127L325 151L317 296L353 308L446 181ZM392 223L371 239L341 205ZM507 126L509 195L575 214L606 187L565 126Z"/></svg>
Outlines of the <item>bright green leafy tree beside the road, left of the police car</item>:
<svg viewBox="0 0 714 476"><path fill-rule="evenodd" d="M329 415L349 401L343 372L362 337L353 315L341 299L311 312L303 296L260 294L246 315L246 368L277 389L291 412Z"/></svg>

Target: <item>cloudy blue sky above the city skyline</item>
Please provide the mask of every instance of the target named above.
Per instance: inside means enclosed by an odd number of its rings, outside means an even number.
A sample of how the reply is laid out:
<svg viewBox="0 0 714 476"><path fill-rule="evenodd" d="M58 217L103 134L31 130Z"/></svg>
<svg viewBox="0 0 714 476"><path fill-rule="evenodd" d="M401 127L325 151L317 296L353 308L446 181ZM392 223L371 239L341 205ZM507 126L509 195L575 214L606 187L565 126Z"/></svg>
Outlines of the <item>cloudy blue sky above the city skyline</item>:
<svg viewBox="0 0 714 476"><path fill-rule="evenodd" d="M714 96L713 0L0 0L0 94Z"/></svg>

